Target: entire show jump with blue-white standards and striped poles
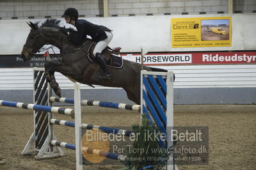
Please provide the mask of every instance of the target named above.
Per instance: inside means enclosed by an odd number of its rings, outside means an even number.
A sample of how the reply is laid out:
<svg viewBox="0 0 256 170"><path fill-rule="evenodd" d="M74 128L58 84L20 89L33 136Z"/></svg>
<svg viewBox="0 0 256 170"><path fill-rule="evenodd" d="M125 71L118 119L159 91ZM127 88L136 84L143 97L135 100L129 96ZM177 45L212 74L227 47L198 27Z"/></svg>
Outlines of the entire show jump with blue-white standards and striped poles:
<svg viewBox="0 0 256 170"><path fill-rule="evenodd" d="M115 109L126 109L140 111L146 114L150 122L156 122L161 132L166 134L164 147L173 146L170 128L173 127L173 73L172 72L146 72L141 71L141 105L118 104L112 102L100 102L93 100L81 100L80 84L74 83L74 99L52 97L52 91L46 82L44 68L33 68L34 71L34 104L23 104L0 100L0 105L19 107L34 110L34 132L26 144L23 155L37 153L35 158L51 158L65 155L63 148L76 150L76 169L83 169L82 151L101 155L116 160L125 160L124 155L99 151L93 148L81 146L81 129L99 128L106 133L125 134L129 136L133 132L117 128L101 127L81 123L81 105L92 105L98 107L109 107ZM52 102L63 102L74 104L74 109L52 107ZM52 113L60 113L74 116L75 121L56 120ZM58 141L54 136L53 125L63 125L75 128L76 144L68 144ZM166 165L167 169L178 169L173 161Z"/></svg>

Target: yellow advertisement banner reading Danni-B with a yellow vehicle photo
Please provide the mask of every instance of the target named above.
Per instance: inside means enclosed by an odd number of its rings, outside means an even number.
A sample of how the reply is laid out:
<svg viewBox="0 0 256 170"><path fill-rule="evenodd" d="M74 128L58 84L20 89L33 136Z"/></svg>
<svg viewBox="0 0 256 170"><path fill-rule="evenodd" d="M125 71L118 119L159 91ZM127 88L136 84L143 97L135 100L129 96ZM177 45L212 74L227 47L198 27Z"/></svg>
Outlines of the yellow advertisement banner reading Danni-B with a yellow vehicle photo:
<svg viewBox="0 0 256 170"><path fill-rule="evenodd" d="M231 17L172 18L172 47L229 47Z"/></svg>

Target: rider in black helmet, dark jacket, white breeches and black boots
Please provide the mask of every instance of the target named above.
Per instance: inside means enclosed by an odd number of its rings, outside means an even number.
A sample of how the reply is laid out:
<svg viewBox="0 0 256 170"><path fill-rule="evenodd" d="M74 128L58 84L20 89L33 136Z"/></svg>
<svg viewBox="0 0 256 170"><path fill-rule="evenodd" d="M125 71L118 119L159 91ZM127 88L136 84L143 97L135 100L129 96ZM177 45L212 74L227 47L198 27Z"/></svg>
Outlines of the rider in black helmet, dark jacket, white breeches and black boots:
<svg viewBox="0 0 256 170"><path fill-rule="evenodd" d="M76 8L67 8L64 12L65 20L68 24L72 24L77 28L77 34L68 35L68 39L75 43L76 45L82 45L86 39L86 35L92 37L94 42L97 42L93 50L93 55L96 61L99 63L103 75L99 77L100 79L111 79L112 75L108 71L108 66L103 58L101 52L104 50L109 42L113 38L113 33L108 27L98 26L84 19L78 19L78 12Z"/></svg>

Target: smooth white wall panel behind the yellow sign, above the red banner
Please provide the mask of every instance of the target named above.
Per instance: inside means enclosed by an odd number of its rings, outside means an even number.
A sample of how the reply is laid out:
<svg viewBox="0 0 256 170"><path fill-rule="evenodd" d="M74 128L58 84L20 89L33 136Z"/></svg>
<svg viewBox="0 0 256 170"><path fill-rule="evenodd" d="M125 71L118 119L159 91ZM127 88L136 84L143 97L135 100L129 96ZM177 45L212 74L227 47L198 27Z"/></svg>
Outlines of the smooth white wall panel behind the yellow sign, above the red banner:
<svg viewBox="0 0 256 170"><path fill-rule="evenodd" d="M170 20L173 17L232 17L232 47L172 48ZM41 19L42 20L42 19ZM44 19L45 20L45 19ZM63 20L63 19L61 19ZM113 29L110 47L122 47L122 52L140 52L141 47L150 52L255 50L256 15L164 15L141 17L86 18L90 22ZM29 33L29 20L0 20L0 55L20 54ZM33 22L38 20L32 20Z"/></svg>

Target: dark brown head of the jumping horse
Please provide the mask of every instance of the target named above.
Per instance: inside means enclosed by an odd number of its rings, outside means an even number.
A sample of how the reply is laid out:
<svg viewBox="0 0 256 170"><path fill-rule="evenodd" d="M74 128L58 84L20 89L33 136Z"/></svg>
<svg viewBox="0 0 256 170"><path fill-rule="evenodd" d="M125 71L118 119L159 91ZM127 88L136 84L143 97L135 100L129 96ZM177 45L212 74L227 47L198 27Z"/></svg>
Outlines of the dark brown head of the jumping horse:
<svg viewBox="0 0 256 170"><path fill-rule="evenodd" d="M36 24L29 22L28 25L31 30L20 54L23 61L29 61L31 56L38 52L47 41Z"/></svg>

